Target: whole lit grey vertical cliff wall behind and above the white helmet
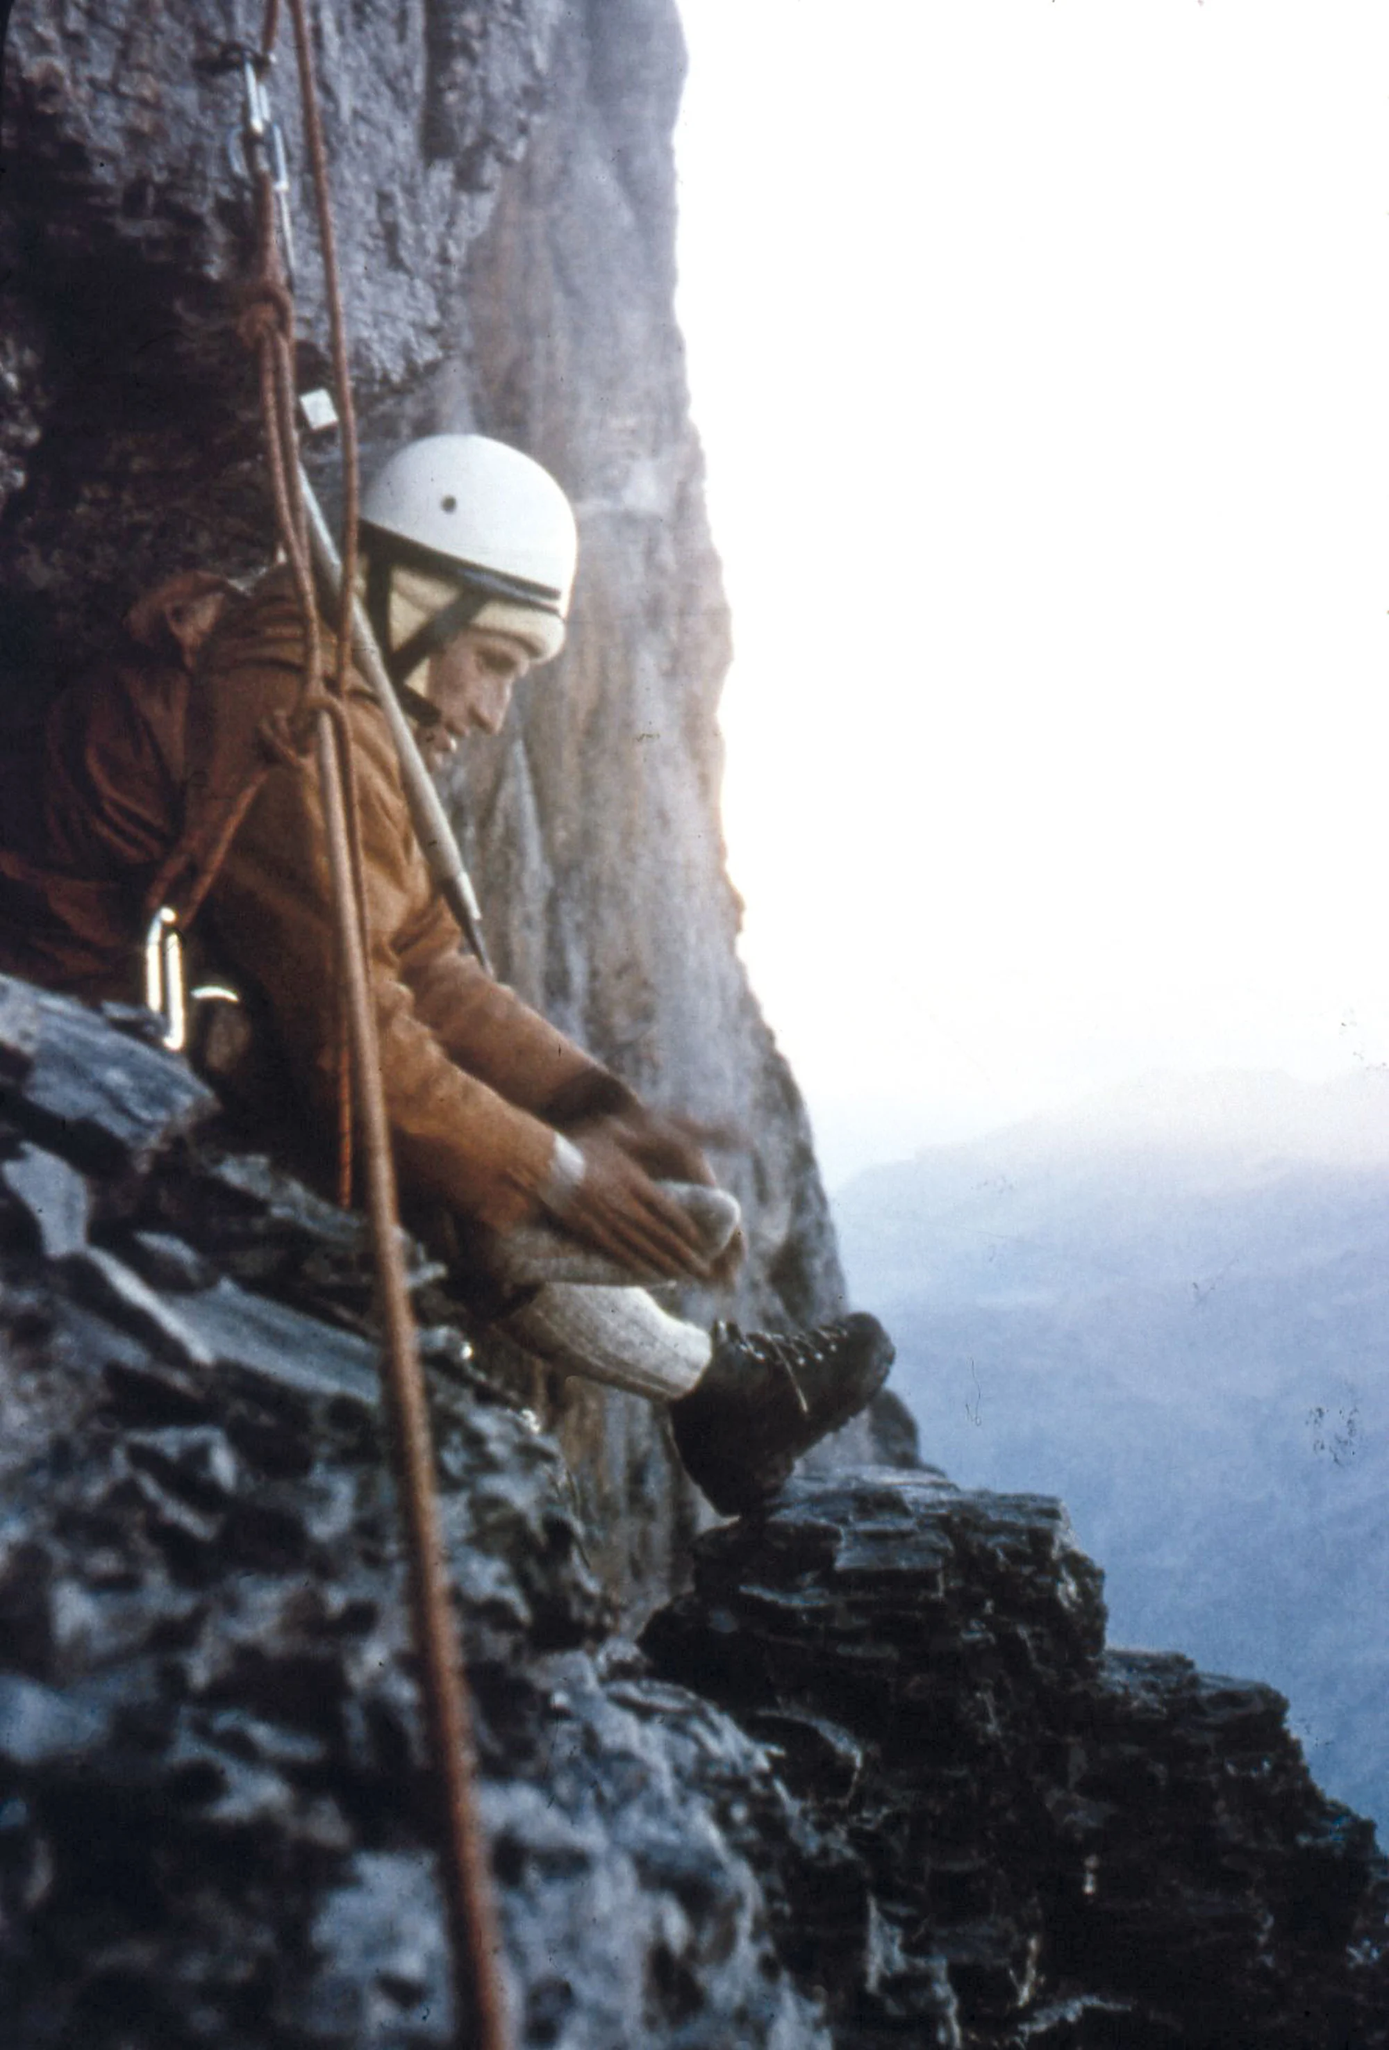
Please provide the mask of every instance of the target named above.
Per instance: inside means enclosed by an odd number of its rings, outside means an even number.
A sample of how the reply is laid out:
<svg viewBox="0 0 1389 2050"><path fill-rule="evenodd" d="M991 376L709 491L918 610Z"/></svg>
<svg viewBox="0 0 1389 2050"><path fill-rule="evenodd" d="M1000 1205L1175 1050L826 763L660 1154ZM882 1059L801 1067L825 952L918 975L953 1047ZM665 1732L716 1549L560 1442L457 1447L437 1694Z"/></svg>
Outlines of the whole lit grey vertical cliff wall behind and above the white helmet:
<svg viewBox="0 0 1389 2050"><path fill-rule="evenodd" d="M260 10L18 0L6 43L0 666L20 720L152 580L264 564L248 256L225 39ZM563 658L455 789L508 980L656 1101L729 1132L750 1220L738 1312L793 1322L840 1271L805 1113L735 957L719 830L727 613L674 287L672 0L371 8L322 0L328 129L365 467L479 428L576 502ZM285 45L287 49L287 45ZM277 111L303 162L289 57ZM311 203L295 178L301 381L324 379ZM336 490L334 455L313 457ZM727 1304L692 1304L711 1314ZM600 1527L635 1511L633 1593L666 1572L678 1488L625 1398L559 1400Z"/></svg>

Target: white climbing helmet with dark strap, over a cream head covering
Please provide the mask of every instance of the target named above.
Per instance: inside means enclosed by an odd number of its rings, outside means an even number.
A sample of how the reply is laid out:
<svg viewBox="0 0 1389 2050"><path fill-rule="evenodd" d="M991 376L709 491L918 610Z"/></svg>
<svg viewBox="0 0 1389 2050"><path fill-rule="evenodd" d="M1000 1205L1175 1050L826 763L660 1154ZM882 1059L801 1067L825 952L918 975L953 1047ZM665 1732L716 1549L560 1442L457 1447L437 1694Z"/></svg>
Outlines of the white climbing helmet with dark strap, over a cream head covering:
<svg viewBox="0 0 1389 2050"><path fill-rule="evenodd" d="M578 529L551 474L486 435L426 435L393 455L363 498L367 609L397 683L467 625L514 633L547 662L563 646ZM391 646L391 578L440 580L443 605Z"/></svg>

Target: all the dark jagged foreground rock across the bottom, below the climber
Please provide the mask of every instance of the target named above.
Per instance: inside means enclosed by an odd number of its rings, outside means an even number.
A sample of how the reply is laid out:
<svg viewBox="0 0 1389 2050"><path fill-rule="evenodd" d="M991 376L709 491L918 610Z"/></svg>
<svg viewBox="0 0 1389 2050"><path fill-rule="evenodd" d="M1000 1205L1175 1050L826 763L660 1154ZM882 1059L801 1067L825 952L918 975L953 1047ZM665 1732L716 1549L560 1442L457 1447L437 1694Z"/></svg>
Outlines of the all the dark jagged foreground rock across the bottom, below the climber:
<svg viewBox="0 0 1389 2050"><path fill-rule="evenodd" d="M6 2050L445 2046L363 1228L141 1021L0 980ZM637 1650L412 1283L518 2050L1389 2042L1369 1824L1270 1689L1104 1652L1059 1505L799 1480Z"/></svg>

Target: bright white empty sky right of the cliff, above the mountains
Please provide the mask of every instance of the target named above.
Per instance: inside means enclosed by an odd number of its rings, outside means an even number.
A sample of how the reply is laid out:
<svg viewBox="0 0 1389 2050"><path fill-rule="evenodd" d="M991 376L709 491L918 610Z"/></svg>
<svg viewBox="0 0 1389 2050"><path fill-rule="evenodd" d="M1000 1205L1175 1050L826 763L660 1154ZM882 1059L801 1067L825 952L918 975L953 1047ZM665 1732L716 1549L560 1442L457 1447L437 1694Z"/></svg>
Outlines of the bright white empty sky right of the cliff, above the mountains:
<svg viewBox="0 0 1389 2050"><path fill-rule="evenodd" d="M834 1185L1389 1058L1385 0L680 0L746 957Z"/></svg>

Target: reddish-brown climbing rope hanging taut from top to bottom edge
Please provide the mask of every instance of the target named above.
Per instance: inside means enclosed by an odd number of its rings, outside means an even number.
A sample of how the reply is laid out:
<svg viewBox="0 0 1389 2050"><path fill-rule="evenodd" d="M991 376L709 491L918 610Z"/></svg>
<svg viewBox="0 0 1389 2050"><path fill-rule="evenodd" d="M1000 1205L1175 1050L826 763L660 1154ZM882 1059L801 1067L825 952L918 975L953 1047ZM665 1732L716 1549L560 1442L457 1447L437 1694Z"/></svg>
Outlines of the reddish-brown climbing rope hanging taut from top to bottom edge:
<svg viewBox="0 0 1389 2050"><path fill-rule="evenodd" d="M352 650L352 594L356 566L356 433L348 379L346 330L328 193L328 158L318 111L313 51L305 16L305 0L287 0L293 25L303 133L309 154L313 199L318 211L320 250L324 260L324 295L332 330L332 369L338 418L342 424L344 465L344 537L342 582L336 621L334 674L324 689L322 633L313 588L309 517L299 474L299 441L295 426L293 336L295 305L285 269L281 232L283 180L277 193L279 139L266 133L264 86L256 111L246 123L248 166L256 207L256 271L242 316L242 338L256 353L260 377L260 410L264 422L275 529L293 580L303 621L303 685L291 717L277 734L283 758L303 767L305 738L311 740L318 785L324 808L324 828L332 873L332 904L344 994L342 1039L350 1056L342 1078L350 1093L340 1093L342 1130L361 1128L367 1214L371 1220L373 1255L381 1316L385 1324L383 1386L391 1421L395 1480L406 1519L410 1558L410 1595L414 1636L424 1677L424 1701L430 1724L434 1771L443 1790L443 1851L457 2013L471 2011L473 2027L459 2019L459 2042L469 2050L510 2050L512 2032L506 2015L500 1931L488 1847L481 1831L475 1794L475 1753L463 1658L453 1615L445 1550L434 1494L434 1449L430 1439L424 1376L420 1369L418 1335L406 1259L399 1232L395 1168L381 1082L381 1050L377 1017L371 1000L367 894L363 888L363 851L356 818L352 738L346 711L346 681ZM248 59L248 70L264 80L275 61L275 41L281 23L281 0L268 0L260 49ZM283 162L283 160L281 160ZM229 826L234 830L234 824ZM223 828L227 834L227 828ZM219 834L219 840L223 838ZM350 1154L344 1146L346 1166Z"/></svg>

